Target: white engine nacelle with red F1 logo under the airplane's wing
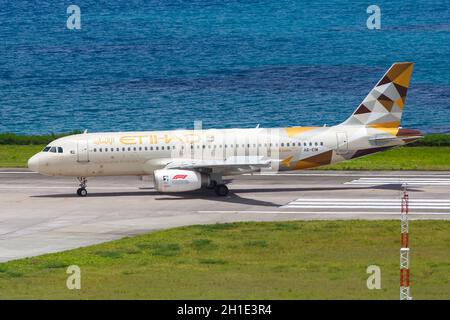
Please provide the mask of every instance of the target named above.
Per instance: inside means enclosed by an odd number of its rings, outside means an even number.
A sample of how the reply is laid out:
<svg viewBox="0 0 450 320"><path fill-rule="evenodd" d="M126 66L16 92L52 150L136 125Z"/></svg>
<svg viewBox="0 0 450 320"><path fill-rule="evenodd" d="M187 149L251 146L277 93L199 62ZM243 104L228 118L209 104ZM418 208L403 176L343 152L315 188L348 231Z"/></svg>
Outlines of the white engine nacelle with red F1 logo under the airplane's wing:
<svg viewBox="0 0 450 320"><path fill-rule="evenodd" d="M197 171L160 169L153 172L155 189L160 192L198 190L210 183L209 175Z"/></svg>

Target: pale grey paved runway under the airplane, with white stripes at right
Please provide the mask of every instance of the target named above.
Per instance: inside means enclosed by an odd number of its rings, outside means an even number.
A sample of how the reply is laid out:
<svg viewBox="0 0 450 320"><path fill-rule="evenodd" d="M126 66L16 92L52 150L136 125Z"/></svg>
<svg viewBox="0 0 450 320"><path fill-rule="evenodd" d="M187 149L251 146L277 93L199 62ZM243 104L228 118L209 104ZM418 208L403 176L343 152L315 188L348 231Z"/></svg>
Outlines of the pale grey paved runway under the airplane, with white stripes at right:
<svg viewBox="0 0 450 320"><path fill-rule="evenodd" d="M400 185L411 219L450 219L449 172L303 171L232 177L230 195L160 194L150 179L73 178L0 170L0 261L152 230L234 221L399 219Z"/></svg>

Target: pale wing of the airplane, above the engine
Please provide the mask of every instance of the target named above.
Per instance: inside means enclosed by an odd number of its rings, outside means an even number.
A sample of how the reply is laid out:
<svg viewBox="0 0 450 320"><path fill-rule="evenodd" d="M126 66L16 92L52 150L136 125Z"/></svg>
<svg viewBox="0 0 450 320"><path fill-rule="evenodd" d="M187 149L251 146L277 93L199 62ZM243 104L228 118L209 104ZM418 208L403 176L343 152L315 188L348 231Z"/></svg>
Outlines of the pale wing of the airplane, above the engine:
<svg viewBox="0 0 450 320"><path fill-rule="evenodd" d="M257 171L261 168L270 168L271 161L264 157L229 157L226 160L203 160L203 159L179 159L168 163L165 169L200 170L211 169L215 172L221 171Z"/></svg>

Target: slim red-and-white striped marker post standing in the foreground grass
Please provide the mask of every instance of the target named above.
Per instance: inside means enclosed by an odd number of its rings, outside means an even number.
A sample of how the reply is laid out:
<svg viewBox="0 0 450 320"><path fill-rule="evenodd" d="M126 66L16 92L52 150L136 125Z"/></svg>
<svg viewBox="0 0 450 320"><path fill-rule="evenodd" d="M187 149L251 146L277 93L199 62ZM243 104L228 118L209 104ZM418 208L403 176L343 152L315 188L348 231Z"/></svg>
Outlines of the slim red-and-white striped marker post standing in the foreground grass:
<svg viewBox="0 0 450 320"><path fill-rule="evenodd" d="M406 183L402 185L403 197L401 207L401 248L400 248L400 300L411 300L409 288L409 197Z"/></svg>

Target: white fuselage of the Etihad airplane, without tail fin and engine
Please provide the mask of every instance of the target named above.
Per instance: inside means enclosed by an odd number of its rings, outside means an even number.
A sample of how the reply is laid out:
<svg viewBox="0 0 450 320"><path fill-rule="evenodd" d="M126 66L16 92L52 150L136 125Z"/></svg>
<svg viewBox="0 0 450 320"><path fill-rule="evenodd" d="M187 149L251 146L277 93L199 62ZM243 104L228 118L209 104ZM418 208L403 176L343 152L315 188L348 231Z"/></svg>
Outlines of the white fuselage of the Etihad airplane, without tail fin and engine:
<svg viewBox="0 0 450 320"><path fill-rule="evenodd" d="M369 137L379 133L364 126L86 133L53 141L47 149L55 147L56 152L36 154L29 167L45 175L139 176L174 160L260 157L274 170L295 170L339 162L351 158L352 151L377 147ZM395 139L384 145L401 144ZM302 162L328 151L329 161ZM235 167L221 170L222 175L245 172Z"/></svg>

